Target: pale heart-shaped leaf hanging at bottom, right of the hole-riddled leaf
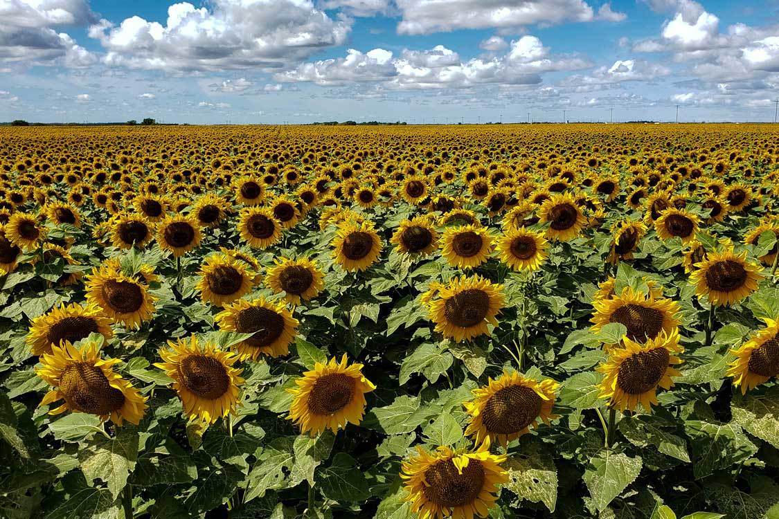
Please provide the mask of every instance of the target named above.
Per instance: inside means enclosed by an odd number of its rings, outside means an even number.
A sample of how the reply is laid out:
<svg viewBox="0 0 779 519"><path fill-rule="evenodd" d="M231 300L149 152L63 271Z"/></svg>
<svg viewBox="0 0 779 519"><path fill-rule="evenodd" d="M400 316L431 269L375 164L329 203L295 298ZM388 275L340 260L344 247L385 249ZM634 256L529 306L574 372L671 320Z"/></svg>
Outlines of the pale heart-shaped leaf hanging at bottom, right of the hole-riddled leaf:
<svg viewBox="0 0 779 519"><path fill-rule="evenodd" d="M601 451L590 458L583 479L598 511L605 510L608 503L636 480L641 465L641 458L628 458L626 454L612 451Z"/></svg>

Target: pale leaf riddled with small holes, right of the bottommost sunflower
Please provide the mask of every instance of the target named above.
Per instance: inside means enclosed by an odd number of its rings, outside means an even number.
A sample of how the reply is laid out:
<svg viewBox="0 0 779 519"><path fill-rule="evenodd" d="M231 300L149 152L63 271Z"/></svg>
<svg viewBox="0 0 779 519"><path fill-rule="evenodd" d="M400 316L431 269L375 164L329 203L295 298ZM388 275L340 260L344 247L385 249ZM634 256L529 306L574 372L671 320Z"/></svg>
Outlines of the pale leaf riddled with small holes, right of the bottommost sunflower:
<svg viewBox="0 0 779 519"><path fill-rule="evenodd" d="M520 449L503 464L509 481L503 486L520 498L544 503L550 512L557 504L557 468L552 455L543 444L528 438L520 442Z"/></svg>

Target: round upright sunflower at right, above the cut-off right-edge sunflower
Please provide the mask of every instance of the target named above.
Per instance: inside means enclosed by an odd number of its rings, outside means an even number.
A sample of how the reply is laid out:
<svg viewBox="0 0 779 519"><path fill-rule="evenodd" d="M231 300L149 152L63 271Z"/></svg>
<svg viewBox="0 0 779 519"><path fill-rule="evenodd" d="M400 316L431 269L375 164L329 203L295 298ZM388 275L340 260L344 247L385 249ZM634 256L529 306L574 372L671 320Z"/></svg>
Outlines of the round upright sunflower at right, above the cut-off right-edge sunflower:
<svg viewBox="0 0 779 519"><path fill-rule="evenodd" d="M715 307L738 303L755 292L757 283L763 279L762 268L747 261L746 251L735 254L729 247L721 252L710 252L695 266L697 270L689 280L696 286L696 294L708 296Z"/></svg>

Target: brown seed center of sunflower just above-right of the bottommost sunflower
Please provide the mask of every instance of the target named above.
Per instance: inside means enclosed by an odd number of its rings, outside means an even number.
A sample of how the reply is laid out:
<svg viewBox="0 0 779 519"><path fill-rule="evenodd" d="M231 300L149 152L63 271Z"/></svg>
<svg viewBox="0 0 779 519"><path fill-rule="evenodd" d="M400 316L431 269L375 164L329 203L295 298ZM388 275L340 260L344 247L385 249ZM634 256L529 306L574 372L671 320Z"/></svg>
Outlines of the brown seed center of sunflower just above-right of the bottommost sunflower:
<svg viewBox="0 0 779 519"><path fill-rule="evenodd" d="M481 421L490 433L519 433L538 418L541 404L541 397L530 387L503 387L488 399Z"/></svg>

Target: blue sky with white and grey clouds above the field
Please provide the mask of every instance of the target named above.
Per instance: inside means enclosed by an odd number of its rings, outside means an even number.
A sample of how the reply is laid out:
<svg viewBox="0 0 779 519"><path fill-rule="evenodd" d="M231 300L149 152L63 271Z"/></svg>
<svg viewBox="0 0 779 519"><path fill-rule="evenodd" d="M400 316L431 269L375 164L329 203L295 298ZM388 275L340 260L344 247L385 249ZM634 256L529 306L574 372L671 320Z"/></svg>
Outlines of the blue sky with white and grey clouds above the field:
<svg viewBox="0 0 779 519"><path fill-rule="evenodd" d="M774 121L777 98L779 0L0 0L0 121Z"/></svg>

